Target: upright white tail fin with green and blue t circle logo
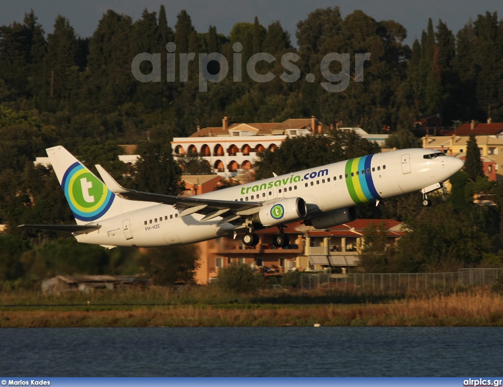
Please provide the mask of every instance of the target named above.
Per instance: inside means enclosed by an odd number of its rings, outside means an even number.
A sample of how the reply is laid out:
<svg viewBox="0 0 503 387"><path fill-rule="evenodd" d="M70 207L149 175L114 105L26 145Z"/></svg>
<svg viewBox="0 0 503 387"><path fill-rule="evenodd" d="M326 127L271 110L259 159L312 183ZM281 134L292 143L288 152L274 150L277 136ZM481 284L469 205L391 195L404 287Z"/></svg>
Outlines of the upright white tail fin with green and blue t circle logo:
<svg viewBox="0 0 503 387"><path fill-rule="evenodd" d="M120 198L62 146L46 149L77 224L122 214Z"/></svg>

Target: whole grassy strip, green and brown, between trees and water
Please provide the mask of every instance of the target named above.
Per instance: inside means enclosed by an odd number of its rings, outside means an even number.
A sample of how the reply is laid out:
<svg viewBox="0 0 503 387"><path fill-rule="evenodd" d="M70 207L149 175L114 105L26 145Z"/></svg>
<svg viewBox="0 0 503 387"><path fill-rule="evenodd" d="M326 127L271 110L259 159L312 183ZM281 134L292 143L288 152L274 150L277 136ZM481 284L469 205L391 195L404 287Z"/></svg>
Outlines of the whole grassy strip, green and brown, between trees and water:
<svg viewBox="0 0 503 387"><path fill-rule="evenodd" d="M208 287L61 295L22 292L0 294L0 305L2 328L503 326L503 295L488 288L379 298L287 291L239 296Z"/></svg>

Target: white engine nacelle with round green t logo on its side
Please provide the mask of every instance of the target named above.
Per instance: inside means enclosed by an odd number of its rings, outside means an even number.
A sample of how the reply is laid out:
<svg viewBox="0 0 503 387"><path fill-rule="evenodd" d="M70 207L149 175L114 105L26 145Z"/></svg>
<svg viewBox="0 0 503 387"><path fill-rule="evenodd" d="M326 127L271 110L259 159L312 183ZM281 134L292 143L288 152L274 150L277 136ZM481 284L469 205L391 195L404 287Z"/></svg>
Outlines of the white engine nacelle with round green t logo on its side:
<svg viewBox="0 0 503 387"><path fill-rule="evenodd" d="M304 219L307 215L306 202L302 198L285 198L277 200L260 209L252 220L263 226L276 226L283 223Z"/></svg>

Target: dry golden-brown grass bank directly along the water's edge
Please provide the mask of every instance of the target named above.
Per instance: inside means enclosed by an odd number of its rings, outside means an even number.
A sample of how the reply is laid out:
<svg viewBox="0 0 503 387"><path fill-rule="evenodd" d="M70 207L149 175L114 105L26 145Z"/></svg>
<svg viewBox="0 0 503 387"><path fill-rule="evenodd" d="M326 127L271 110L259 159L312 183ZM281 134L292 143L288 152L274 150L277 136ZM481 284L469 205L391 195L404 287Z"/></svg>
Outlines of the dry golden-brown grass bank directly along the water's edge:
<svg viewBox="0 0 503 387"><path fill-rule="evenodd" d="M0 328L503 326L503 296L484 289L359 305L2 305Z"/></svg>

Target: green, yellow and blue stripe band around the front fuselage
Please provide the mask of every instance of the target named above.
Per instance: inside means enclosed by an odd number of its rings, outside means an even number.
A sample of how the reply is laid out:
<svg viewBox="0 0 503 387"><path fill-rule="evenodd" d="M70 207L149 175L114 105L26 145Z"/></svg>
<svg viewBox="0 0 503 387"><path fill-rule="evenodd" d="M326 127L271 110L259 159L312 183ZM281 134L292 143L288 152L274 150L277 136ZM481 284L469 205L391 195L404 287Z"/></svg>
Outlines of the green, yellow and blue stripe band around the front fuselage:
<svg viewBox="0 0 503 387"><path fill-rule="evenodd" d="M356 204L381 199L374 186L372 173L367 173L367 169L370 170L371 168L372 156L357 157L346 162L345 173L348 175L346 185L351 199Z"/></svg>

